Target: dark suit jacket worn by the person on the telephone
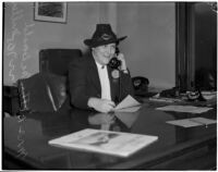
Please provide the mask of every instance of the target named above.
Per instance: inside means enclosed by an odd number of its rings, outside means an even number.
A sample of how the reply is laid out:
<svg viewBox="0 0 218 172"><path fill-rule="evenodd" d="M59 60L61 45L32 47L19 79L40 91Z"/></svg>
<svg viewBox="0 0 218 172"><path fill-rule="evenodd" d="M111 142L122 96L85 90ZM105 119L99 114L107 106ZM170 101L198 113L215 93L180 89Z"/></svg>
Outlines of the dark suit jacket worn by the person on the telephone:
<svg viewBox="0 0 218 172"><path fill-rule="evenodd" d="M112 78L112 69L107 66L110 79L111 98L121 101L128 95L134 95L130 74L120 71L120 81ZM119 89L120 87L120 89ZM82 58L74 58L69 67L69 89L71 103L81 109L88 109L90 97L101 97L100 79L95 60L89 52ZM119 99L119 100L118 100Z"/></svg>

